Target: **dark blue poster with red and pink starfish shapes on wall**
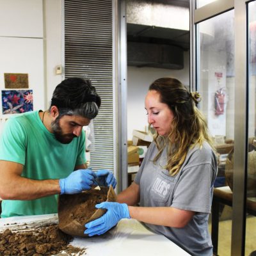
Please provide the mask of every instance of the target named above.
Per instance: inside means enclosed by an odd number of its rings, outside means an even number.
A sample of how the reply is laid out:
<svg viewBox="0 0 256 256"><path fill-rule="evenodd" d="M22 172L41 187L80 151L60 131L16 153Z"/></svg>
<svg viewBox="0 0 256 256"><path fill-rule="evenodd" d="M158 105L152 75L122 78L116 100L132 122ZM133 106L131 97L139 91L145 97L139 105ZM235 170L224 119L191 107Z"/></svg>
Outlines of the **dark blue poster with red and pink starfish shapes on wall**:
<svg viewBox="0 0 256 256"><path fill-rule="evenodd" d="M33 90L2 90L3 115L33 111Z"/></svg>

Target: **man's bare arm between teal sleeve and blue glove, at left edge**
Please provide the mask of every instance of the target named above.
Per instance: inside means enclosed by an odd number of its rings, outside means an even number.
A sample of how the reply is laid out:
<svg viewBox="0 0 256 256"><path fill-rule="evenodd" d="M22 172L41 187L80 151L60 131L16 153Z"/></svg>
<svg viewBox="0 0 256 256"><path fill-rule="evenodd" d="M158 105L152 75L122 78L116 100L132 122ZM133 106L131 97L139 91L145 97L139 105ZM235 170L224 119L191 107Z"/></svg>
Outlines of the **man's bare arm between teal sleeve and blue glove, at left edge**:
<svg viewBox="0 0 256 256"><path fill-rule="evenodd" d="M0 197L3 200L33 200L60 194L58 179L27 179L21 177L22 170L22 164L0 160Z"/></svg>

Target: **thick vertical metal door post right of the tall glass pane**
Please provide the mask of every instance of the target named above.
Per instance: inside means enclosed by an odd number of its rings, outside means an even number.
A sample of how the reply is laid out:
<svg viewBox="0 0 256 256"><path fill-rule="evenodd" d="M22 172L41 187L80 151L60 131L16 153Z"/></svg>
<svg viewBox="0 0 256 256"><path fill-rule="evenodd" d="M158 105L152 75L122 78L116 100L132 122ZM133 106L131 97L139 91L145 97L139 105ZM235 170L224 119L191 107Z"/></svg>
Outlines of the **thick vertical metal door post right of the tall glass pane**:
<svg viewBox="0 0 256 256"><path fill-rule="evenodd" d="M246 226L246 167L247 167L247 19L246 1L235 0L235 136L233 173L233 214L231 255L244 255ZM244 90L246 88L246 90ZM244 115L244 110L246 115Z"/></svg>

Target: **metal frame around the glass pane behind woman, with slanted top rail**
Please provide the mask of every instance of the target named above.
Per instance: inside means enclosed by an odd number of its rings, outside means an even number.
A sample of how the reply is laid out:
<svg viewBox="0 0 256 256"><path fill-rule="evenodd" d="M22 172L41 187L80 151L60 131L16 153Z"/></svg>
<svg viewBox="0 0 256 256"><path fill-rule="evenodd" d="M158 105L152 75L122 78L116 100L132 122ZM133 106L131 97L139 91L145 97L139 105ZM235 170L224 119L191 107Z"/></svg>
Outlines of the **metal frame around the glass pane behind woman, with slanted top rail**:
<svg viewBox="0 0 256 256"><path fill-rule="evenodd" d="M218 0L202 8L193 10L195 0L191 0L190 12L195 15L192 40L196 38L195 25L198 22L214 17L220 13L234 8L235 11L235 127L234 127L234 189L233 189L233 214L232 214L232 241L231 255L244 255L245 228L246 228L246 168L248 145L248 43L247 43L247 13L245 0ZM195 3L194 3L195 4ZM194 13L193 13L194 12ZM191 83L195 88L196 74L196 42L191 42ZM244 115L244 111L246 115Z"/></svg>

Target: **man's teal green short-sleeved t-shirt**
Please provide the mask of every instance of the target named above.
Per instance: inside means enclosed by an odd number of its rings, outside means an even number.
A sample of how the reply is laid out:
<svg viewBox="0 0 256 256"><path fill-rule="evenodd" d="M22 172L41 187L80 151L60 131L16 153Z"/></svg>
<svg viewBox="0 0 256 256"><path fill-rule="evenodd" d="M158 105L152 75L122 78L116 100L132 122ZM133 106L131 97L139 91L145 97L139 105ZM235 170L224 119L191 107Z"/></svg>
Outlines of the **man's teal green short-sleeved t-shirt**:
<svg viewBox="0 0 256 256"><path fill-rule="evenodd" d="M40 120L39 111L9 118L0 139L0 160L24 165L22 177L62 179L86 162L84 132L69 144L56 140ZM8 170L6 170L8 172ZM56 213L58 195L36 200L3 200L2 218Z"/></svg>

